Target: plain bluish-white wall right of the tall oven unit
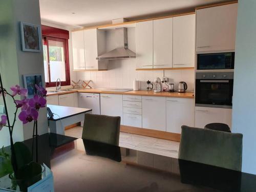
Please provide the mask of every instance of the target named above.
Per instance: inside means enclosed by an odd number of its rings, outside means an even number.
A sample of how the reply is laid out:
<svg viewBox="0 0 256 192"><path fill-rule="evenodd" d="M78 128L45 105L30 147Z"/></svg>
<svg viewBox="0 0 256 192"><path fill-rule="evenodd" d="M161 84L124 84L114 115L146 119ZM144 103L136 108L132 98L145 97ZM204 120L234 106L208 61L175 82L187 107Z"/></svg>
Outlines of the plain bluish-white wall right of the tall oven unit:
<svg viewBox="0 0 256 192"><path fill-rule="evenodd" d="M232 131L243 134L242 171L256 174L256 1L238 2Z"/></svg>

